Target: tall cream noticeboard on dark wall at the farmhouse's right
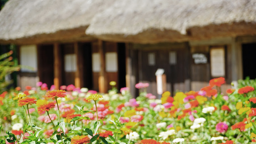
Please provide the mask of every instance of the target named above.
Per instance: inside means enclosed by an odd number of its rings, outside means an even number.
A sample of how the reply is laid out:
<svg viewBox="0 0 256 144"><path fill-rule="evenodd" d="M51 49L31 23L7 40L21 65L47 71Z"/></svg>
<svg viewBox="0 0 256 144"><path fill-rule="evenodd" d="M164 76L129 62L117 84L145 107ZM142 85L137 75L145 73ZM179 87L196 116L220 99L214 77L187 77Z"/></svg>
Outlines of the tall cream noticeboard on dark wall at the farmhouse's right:
<svg viewBox="0 0 256 144"><path fill-rule="evenodd" d="M210 51L211 75L213 77L225 76L225 49L213 48Z"/></svg>

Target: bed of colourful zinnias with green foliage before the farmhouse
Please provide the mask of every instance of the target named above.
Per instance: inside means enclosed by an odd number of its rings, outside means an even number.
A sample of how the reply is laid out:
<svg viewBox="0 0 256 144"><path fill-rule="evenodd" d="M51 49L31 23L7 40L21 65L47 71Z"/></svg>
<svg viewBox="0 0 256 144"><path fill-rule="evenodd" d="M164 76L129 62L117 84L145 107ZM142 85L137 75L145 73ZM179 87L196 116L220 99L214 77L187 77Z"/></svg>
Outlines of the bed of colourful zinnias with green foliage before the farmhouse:
<svg viewBox="0 0 256 144"><path fill-rule="evenodd" d="M254 87L220 92L225 79L212 79L195 92L132 99L129 88L97 94L73 85L37 83L0 95L1 143L250 143L256 139ZM6 134L3 132L6 131Z"/></svg>

